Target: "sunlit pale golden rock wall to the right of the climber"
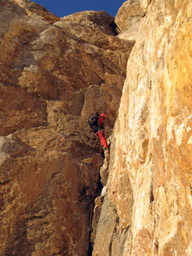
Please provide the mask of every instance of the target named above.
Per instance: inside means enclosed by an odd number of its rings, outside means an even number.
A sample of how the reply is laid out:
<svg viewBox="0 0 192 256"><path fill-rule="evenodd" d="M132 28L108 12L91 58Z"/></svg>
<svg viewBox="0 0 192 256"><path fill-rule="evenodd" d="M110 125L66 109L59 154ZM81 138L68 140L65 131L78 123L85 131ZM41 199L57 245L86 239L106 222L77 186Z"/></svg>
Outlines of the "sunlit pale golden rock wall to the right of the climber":
<svg viewBox="0 0 192 256"><path fill-rule="evenodd" d="M142 1L93 255L192 255L192 2Z"/></svg>

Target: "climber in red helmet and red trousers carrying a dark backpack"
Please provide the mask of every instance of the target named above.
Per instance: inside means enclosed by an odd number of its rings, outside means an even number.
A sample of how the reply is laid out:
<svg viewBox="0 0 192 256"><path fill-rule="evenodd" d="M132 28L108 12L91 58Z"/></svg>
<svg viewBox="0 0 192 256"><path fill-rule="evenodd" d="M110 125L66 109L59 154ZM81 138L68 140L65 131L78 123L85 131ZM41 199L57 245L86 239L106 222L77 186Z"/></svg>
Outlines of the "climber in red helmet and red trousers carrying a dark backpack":
<svg viewBox="0 0 192 256"><path fill-rule="evenodd" d="M105 113L91 113L87 123L90 125L91 131L96 133L96 136L100 138L101 146L105 149L108 148L108 143L106 137L104 136L104 126L103 123L107 118Z"/></svg>

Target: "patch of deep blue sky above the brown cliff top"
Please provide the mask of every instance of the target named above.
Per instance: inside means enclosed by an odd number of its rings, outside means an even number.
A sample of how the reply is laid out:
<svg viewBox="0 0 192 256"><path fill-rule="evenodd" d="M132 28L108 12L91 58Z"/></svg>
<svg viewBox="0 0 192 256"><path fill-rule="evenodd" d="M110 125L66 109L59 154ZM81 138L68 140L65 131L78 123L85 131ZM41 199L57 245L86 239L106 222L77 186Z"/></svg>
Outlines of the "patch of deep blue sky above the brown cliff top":
<svg viewBox="0 0 192 256"><path fill-rule="evenodd" d="M84 10L104 10L115 17L125 0L33 0L60 18Z"/></svg>

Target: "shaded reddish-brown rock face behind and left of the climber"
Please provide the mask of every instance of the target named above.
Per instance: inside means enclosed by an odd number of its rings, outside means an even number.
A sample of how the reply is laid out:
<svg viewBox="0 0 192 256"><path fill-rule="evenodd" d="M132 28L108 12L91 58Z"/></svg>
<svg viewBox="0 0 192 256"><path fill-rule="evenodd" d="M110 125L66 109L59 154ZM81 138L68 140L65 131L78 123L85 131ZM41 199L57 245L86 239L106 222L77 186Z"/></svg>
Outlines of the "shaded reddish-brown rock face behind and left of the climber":
<svg viewBox="0 0 192 256"><path fill-rule="evenodd" d="M95 26L0 0L1 256L86 253L101 165L86 119L105 111L112 133L133 47L109 33L111 16L88 16Z"/></svg>

